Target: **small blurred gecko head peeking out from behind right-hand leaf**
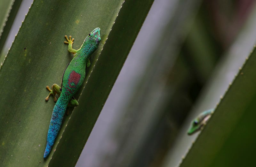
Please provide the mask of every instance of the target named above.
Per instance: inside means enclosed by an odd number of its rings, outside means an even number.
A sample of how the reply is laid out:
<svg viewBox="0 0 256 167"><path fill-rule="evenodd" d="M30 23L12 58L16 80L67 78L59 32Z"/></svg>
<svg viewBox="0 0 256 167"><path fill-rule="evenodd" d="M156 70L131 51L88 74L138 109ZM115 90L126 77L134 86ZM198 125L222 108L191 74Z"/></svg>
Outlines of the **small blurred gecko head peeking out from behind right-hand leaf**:
<svg viewBox="0 0 256 167"><path fill-rule="evenodd" d="M199 114L192 122L188 129L188 135L192 135L196 133L197 131L201 130L203 125L206 124L206 122L209 120L209 118L212 116L213 109L206 110Z"/></svg>

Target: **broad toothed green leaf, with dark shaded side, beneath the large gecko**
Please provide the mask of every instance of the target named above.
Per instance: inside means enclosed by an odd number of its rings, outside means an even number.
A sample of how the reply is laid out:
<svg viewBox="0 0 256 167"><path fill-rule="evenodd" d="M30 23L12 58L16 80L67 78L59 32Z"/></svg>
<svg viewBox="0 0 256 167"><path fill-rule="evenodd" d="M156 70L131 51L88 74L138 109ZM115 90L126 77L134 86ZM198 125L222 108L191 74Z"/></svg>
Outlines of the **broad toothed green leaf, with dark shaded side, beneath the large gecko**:
<svg viewBox="0 0 256 167"><path fill-rule="evenodd" d="M34 1L0 69L1 166L75 165L152 2ZM79 106L64 116L44 160L54 106L52 98L44 100L49 93L45 86L60 84L72 59L64 35L72 35L78 49L95 27L101 28L101 42L91 57L85 87L76 95L81 95Z"/></svg>

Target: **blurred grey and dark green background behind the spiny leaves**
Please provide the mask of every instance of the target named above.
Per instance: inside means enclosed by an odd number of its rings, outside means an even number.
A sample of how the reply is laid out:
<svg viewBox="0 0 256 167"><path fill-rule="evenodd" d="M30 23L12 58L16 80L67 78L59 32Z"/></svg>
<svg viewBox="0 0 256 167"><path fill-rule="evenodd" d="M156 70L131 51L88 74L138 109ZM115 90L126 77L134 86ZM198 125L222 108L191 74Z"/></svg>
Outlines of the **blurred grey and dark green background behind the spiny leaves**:
<svg viewBox="0 0 256 167"><path fill-rule="evenodd" d="M216 107L252 50L255 15L253 0L155 0L76 167L177 166L196 139L190 121Z"/></svg>

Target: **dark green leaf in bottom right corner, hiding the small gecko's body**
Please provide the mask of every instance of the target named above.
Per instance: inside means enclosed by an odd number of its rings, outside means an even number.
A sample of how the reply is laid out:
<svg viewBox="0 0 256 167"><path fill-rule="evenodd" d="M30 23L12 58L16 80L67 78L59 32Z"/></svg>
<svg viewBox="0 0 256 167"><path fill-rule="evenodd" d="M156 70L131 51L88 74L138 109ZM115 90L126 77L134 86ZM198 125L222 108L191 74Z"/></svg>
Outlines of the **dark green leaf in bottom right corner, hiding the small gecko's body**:
<svg viewBox="0 0 256 167"><path fill-rule="evenodd" d="M181 167L253 166L255 164L253 160L256 148L255 63L254 48L209 123L183 160Z"/></svg>

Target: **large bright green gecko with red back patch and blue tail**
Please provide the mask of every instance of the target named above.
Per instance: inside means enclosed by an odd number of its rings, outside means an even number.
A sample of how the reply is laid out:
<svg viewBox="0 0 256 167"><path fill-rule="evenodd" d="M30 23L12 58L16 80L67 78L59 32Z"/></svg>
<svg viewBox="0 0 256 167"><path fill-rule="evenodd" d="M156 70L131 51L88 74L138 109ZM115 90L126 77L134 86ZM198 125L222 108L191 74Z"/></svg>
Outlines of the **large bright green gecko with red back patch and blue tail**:
<svg viewBox="0 0 256 167"><path fill-rule="evenodd" d="M62 74L61 87L57 84L52 85L52 90L49 86L46 87L50 93L45 98L45 101L48 101L49 97L52 95L53 100L56 103L52 111L44 158L51 152L67 107L75 107L78 105L78 102L73 95L76 94L77 90L84 83L85 68L91 65L89 58L99 46L101 40L100 28L95 28L85 38L82 46L78 50L72 48L74 38L71 39L71 36L69 36L68 39L67 35L65 35L65 38L67 41L64 41L64 43L68 44L68 52L73 53L74 57ZM59 96L58 100L55 97L56 94Z"/></svg>

